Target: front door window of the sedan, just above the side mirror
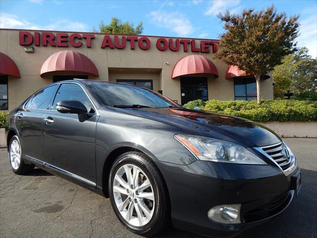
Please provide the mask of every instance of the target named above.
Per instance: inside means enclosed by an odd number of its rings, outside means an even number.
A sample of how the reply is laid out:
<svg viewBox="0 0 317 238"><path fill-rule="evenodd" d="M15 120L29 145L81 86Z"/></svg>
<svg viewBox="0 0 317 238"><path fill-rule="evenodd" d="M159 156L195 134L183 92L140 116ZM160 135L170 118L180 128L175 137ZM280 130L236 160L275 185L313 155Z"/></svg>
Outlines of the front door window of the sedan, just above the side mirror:
<svg viewBox="0 0 317 238"><path fill-rule="evenodd" d="M77 84L64 83L60 86L56 93L52 110L56 110L57 102L64 100L79 101L85 105L89 113L95 113L94 107L87 97L86 93Z"/></svg>

